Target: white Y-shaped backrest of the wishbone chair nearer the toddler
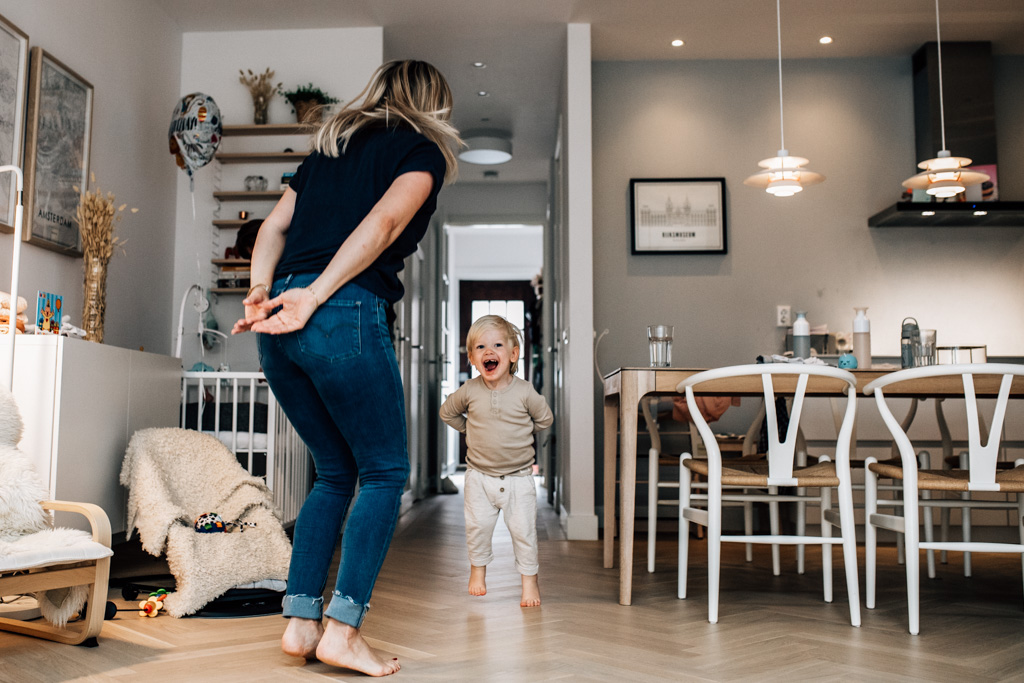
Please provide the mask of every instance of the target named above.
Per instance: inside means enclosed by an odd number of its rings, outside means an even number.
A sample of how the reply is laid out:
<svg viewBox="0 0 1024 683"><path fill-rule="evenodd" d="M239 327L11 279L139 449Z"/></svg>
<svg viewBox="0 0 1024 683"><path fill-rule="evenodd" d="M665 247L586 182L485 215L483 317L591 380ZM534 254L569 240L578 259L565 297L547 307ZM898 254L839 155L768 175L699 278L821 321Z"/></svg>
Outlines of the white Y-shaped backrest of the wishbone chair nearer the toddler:
<svg viewBox="0 0 1024 683"><path fill-rule="evenodd" d="M830 366L800 364L757 364L731 366L697 373L683 380L676 390L686 394L689 403L694 402L694 394L701 390L718 389L729 393L728 379L736 377L761 377L764 395L765 422L768 431L768 483L772 486L793 486L796 453L800 442L800 418L807 396L807 388L812 380L828 381L837 392L847 396L847 407L836 444L836 464L841 471L848 470L850 461L850 437L853 434L853 419L856 413L856 378L845 370ZM707 386L713 383L719 386ZM705 385L705 386L702 386ZM775 411L776 394L792 397L790 424L784 435L779 433ZM714 434L699 411L690 411L693 421L708 446L709 458L721 461L721 453Z"/></svg>

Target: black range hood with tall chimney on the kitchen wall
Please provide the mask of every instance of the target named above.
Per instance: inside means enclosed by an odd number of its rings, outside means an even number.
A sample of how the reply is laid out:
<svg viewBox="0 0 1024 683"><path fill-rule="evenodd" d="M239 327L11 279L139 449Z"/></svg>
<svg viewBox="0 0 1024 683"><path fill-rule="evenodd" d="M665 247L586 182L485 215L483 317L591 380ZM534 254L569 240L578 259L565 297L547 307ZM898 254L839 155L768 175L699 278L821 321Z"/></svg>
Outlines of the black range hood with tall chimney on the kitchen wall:
<svg viewBox="0 0 1024 683"><path fill-rule="evenodd" d="M946 147L973 166L995 165L992 44L942 43ZM942 148L938 45L925 43L911 57L916 159ZM912 169L908 168L908 175ZM997 178L996 178L997 179ZM961 195L963 197L963 195ZM898 202L867 219L870 227L1024 226L1024 202Z"/></svg>

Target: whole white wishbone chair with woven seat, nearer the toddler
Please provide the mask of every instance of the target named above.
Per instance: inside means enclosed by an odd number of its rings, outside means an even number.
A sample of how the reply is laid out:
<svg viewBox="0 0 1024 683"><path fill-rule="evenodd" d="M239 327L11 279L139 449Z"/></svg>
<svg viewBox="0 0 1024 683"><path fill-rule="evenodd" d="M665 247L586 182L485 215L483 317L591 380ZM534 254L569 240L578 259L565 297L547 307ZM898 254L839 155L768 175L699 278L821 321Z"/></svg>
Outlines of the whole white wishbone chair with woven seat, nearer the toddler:
<svg viewBox="0 0 1024 683"><path fill-rule="evenodd" d="M741 467L723 463L722 454L708 423L695 412L696 392L713 392L721 387L728 389L728 380L734 377L760 376L764 388L768 453L764 461L746 463ZM829 387L842 386L847 394L847 408L842 428L836 442L836 457L821 456L817 462L801 467L797 462L800 419L808 385L827 383ZM708 460L700 461L688 454L682 458L679 519L679 597L686 597L687 562L689 559L690 522L708 527L708 621L718 622L719 575L721 570L722 543L760 543L769 545L820 545L824 574L824 599L831 602L831 546L843 546L846 566L847 592L850 601L850 622L860 626L860 599L857 585L857 550L853 521L853 497L850 481L850 437L856 413L856 379L852 374L818 365L769 364L720 368L697 373L680 382L678 391L685 392L690 414L708 450ZM775 415L776 395L792 396L790 424L784 435L779 433ZM708 480L707 508L694 507L691 485L692 474ZM732 493L728 487L757 489L758 493ZM793 494L780 488L796 488ZM804 495L800 489L805 489ZM839 490L839 511L831 508L831 489ZM726 492L723 492L726 489ZM817 489L813 495L807 489ZM726 536L722 533L722 505L726 501L759 501L768 503L807 503L821 506L821 535L797 533L786 536L772 529L767 535ZM840 537L833 537L833 528L840 529Z"/></svg>

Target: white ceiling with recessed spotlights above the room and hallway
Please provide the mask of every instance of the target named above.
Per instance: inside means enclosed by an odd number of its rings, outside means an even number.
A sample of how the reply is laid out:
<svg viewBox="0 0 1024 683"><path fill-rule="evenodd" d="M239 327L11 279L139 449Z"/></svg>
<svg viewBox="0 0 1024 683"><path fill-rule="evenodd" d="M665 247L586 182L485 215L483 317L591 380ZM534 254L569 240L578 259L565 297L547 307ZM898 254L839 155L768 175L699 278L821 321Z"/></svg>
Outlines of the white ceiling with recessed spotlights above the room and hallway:
<svg viewBox="0 0 1024 683"><path fill-rule="evenodd" d="M514 158L462 164L463 182L543 181L555 146L565 24L591 25L593 59L777 57L771 0L161 0L182 31L384 27L387 59L435 65L462 130L512 133ZM1024 0L942 0L943 41L1024 54ZM782 0L782 56L907 56L935 40L933 0ZM821 45L818 38L831 36ZM670 42L680 38L682 47ZM484 69L472 66L482 61ZM477 93L486 91L487 96Z"/></svg>

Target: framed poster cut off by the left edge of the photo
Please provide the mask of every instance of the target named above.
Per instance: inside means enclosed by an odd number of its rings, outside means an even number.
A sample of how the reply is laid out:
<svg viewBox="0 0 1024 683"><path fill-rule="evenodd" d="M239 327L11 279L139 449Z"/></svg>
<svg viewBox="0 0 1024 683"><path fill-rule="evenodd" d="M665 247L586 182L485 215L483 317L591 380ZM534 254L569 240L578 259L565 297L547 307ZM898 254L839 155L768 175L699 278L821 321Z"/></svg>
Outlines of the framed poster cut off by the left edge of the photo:
<svg viewBox="0 0 1024 683"><path fill-rule="evenodd" d="M28 76L29 36L0 16L0 166L22 166ZM0 174L0 231L14 231L16 205L14 174Z"/></svg>

